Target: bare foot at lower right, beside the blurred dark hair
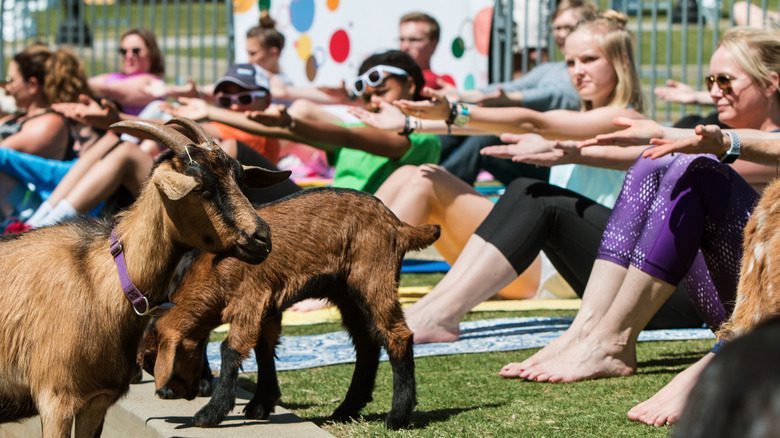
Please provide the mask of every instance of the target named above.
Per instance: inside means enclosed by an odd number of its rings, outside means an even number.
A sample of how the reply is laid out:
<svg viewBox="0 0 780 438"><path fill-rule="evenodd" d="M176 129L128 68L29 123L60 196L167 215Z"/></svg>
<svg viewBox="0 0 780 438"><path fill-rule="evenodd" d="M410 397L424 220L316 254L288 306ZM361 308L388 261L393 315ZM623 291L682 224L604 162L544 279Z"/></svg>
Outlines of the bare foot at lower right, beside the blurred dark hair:
<svg viewBox="0 0 780 438"><path fill-rule="evenodd" d="M715 357L714 353L707 353L698 362L674 376L674 379L655 395L631 408L628 411L628 418L651 426L663 426L676 422L685 407L688 393L691 392L702 370L713 357Z"/></svg>

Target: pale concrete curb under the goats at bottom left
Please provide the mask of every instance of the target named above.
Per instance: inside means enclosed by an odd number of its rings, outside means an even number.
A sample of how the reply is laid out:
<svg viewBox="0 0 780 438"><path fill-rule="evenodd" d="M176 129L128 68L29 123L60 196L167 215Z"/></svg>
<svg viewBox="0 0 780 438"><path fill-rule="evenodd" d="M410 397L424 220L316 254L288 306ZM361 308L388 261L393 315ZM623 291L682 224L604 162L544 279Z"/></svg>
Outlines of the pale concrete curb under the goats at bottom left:
<svg viewBox="0 0 780 438"><path fill-rule="evenodd" d="M252 398L246 391L238 390L236 407L219 426L198 428L189 426L192 416L206 404L207 398L186 400L161 400L154 395L154 380L144 375L142 383L130 386L130 392L109 409L106 415L103 437L280 437L280 438L328 438L333 437L310 421L304 421L292 412L276 407L267 421L248 420L242 409ZM28 438L41 435L38 417L21 423L0 426L0 438Z"/></svg>

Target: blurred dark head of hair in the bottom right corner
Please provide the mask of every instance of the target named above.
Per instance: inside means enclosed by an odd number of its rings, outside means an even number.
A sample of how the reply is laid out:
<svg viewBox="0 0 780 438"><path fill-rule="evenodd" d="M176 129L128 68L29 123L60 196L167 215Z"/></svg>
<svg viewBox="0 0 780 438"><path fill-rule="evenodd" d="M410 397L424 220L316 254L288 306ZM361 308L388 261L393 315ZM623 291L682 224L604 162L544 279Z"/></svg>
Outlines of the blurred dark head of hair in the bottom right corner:
<svg viewBox="0 0 780 438"><path fill-rule="evenodd" d="M780 318L726 344L691 390L674 437L769 436L780 430Z"/></svg>

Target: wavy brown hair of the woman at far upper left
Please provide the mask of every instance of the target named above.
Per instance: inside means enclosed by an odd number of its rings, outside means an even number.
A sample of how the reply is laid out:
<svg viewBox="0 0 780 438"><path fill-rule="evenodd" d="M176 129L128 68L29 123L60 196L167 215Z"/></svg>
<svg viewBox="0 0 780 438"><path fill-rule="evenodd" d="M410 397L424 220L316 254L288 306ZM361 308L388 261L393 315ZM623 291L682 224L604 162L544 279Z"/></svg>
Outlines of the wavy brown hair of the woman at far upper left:
<svg viewBox="0 0 780 438"><path fill-rule="evenodd" d="M38 81L48 103L75 102L79 94L91 95L84 67L67 49L51 51L36 43L13 59L25 81Z"/></svg>

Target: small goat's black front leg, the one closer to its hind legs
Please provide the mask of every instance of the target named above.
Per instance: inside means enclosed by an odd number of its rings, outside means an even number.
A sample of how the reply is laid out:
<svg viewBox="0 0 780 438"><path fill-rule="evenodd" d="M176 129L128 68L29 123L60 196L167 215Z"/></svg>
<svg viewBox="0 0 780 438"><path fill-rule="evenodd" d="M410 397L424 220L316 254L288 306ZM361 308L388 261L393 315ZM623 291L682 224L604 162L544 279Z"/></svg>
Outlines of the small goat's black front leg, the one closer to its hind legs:
<svg viewBox="0 0 780 438"><path fill-rule="evenodd" d="M244 407L247 418L265 420L274 411L276 403L282 396L279 389L279 379L276 376L276 360L274 351L282 329L282 314L263 319L260 338L255 345L257 360L257 387L252 400Z"/></svg>

